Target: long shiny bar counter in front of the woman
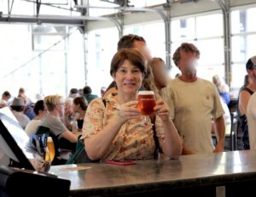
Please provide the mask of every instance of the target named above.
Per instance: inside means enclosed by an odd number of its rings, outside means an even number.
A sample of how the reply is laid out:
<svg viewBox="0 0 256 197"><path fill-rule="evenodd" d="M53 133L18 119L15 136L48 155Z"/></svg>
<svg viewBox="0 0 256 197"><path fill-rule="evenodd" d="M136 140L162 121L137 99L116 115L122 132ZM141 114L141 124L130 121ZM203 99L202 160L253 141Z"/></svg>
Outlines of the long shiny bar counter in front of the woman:
<svg viewBox="0 0 256 197"><path fill-rule="evenodd" d="M256 151L183 155L177 160L138 160L52 166L71 181L71 196L243 196L256 195Z"/></svg>

